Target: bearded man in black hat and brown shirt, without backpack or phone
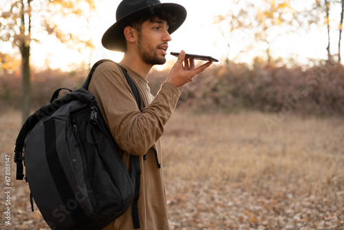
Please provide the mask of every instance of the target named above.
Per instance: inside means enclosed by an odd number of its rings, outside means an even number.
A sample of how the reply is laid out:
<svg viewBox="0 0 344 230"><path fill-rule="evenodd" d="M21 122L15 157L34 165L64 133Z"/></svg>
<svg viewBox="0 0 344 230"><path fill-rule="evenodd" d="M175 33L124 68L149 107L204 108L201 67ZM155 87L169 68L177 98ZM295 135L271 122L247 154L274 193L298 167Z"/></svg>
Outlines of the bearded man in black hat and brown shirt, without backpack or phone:
<svg viewBox="0 0 344 230"><path fill-rule="evenodd" d="M211 65L208 62L195 68L194 61L185 59L182 51L158 94L155 97L151 95L147 84L149 71L153 65L166 62L170 34L182 25L185 18L186 10L178 4L160 3L159 0L124 0L118 6L116 23L103 36L105 48L125 52L120 65L125 67L138 87L142 112L125 76L114 63L99 65L89 86L129 170L130 154L140 156L140 229L169 229L159 139L177 105L178 88ZM132 205L105 229L133 229L131 211Z"/></svg>

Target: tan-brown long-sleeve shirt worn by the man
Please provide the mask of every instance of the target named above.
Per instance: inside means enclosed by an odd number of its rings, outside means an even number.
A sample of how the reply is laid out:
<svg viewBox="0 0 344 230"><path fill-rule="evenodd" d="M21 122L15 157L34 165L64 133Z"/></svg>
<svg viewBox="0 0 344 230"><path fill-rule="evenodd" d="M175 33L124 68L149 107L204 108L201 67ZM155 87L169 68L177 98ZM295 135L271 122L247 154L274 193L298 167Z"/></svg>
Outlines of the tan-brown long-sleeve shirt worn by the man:
<svg viewBox="0 0 344 230"><path fill-rule="evenodd" d="M171 83L163 83L153 97L148 81L124 66L138 87L142 98L142 112L120 68L105 62L96 68L89 85L116 143L122 149L122 160L129 168L130 155L140 156L141 178L138 212L140 229L169 229L166 194L162 167L160 136L173 114L180 91ZM147 159L143 160L144 154ZM131 206L106 230L133 229Z"/></svg>

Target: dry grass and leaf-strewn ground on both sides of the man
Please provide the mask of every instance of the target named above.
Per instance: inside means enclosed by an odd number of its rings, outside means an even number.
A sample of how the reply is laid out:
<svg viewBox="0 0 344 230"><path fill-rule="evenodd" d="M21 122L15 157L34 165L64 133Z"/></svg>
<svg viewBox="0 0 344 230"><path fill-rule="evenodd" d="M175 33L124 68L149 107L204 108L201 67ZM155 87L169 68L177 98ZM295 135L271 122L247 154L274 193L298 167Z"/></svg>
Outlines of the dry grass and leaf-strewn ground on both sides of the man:
<svg viewBox="0 0 344 230"><path fill-rule="evenodd" d="M270 129L267 118L175 112L163 137L171 230L343 229L343 118L291 114ZM20 123L0 116L1 156L13 156ZM14 170L10 229L47 229Z"/></svg>

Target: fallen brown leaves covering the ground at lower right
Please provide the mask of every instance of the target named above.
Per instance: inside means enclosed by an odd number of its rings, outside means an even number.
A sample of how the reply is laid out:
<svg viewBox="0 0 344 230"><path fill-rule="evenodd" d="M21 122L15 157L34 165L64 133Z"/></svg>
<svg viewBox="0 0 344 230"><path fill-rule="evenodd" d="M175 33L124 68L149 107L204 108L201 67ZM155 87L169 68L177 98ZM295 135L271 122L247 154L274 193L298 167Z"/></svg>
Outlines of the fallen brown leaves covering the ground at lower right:
<svg viewBox="0 0 344 230"><path fill-rule="evenodd" d="M252 190L173 178L166 183L171 229L343 229L344 207L274 188ZM248 190L248 191L246 191Z"/></svg>

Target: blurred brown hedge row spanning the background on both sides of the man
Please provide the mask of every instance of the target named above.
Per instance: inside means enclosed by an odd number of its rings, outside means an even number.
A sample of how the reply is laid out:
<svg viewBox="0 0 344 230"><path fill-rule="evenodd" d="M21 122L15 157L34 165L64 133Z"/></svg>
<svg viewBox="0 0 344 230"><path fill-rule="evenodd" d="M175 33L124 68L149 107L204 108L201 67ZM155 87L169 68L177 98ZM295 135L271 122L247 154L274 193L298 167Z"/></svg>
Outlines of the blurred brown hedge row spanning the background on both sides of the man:
<svg viewBox="0 0 344 230"><path fill-rule="evenodd" d="M166 71L153 71L149 78L152 94L166 79ZM21 108L21 76L19 72L3 72L0 79L1 107ZM49 102L58 87L76 89L82 85L87 71L32 71L32 109ZM254 109L280 114L316 115L344 114L343 65L314 67L242 63L217 65L196 76L181 88L180 109L197 112L237 112Z"/></svg>

